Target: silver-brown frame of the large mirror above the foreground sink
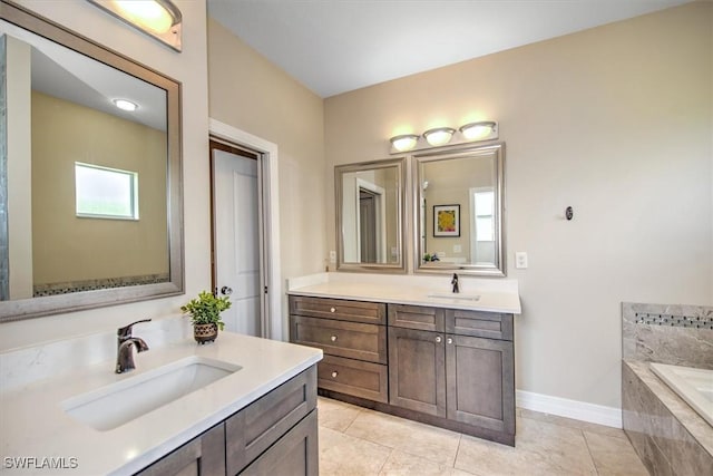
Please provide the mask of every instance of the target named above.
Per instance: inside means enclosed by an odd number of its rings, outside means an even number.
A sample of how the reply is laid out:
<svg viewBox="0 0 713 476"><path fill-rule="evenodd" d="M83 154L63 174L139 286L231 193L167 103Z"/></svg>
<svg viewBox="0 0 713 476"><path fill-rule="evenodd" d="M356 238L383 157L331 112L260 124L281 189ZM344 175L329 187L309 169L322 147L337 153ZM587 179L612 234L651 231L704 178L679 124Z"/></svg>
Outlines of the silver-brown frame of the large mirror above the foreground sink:
<svg viewBox="0 0 713 476"><path fill-rule="evenodd" d="M185 291L180 82L8 0L0 0L0 19L166 90L168 146L166 198L169 252L168 282L1 301L0 322L183 294ZM0 165L2 165L0 174L4 175L7 168L3 162L7 164L7 157L0 157Z"/></svg>

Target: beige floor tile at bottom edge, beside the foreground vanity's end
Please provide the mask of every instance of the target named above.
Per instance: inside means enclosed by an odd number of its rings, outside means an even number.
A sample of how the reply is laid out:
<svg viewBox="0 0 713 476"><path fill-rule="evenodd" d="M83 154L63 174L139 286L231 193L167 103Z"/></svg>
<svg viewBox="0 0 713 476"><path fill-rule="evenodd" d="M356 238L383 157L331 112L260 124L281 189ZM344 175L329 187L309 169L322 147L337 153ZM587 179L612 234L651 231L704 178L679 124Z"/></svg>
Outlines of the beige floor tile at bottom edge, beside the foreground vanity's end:
<svg viewBox="0 0 713 476"><path fill-rule="evenodd" d="M326 427L321 427L319 435L323 476L375 476L391 454L391 448Z"/></svg>

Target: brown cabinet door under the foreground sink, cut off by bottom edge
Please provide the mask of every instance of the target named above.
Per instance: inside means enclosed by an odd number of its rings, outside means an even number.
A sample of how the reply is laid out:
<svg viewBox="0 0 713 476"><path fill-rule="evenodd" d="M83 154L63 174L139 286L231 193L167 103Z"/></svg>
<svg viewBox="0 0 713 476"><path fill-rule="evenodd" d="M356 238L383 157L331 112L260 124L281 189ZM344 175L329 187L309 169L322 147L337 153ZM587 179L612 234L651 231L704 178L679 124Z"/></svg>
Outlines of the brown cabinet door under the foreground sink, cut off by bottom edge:
<svg viewBox="0 0 713 476"><path fill-rule="evenodd" d="M225 425L218 424L166 455L140 476L217 476L225 475Z"/></svg>

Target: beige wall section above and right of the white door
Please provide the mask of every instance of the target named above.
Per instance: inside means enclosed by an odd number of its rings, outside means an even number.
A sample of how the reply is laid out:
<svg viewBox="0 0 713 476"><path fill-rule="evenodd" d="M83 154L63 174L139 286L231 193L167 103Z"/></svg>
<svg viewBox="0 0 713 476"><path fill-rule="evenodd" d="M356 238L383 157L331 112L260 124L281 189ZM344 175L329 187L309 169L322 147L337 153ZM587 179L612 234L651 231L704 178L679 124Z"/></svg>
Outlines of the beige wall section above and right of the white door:
<svg viewBox="0 0 713 476"><path fill-rule="evenodd" d="M324 271L322 99L212 19L208 78L212 118L279 147L281 282ZM285 330L286 312L285 301Z"/></svg>

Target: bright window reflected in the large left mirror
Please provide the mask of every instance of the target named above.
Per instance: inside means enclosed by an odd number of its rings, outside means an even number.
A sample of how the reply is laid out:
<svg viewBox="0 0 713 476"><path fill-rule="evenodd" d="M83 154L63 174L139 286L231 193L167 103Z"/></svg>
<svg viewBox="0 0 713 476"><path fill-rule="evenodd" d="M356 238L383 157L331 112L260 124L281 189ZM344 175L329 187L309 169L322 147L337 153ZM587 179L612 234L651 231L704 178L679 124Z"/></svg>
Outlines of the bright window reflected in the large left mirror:
<svg viewBox="0 0 713 476"><path fill-rule="evenodd" d="M75 162L77 216L138 220L138 174Z"/></svg>

